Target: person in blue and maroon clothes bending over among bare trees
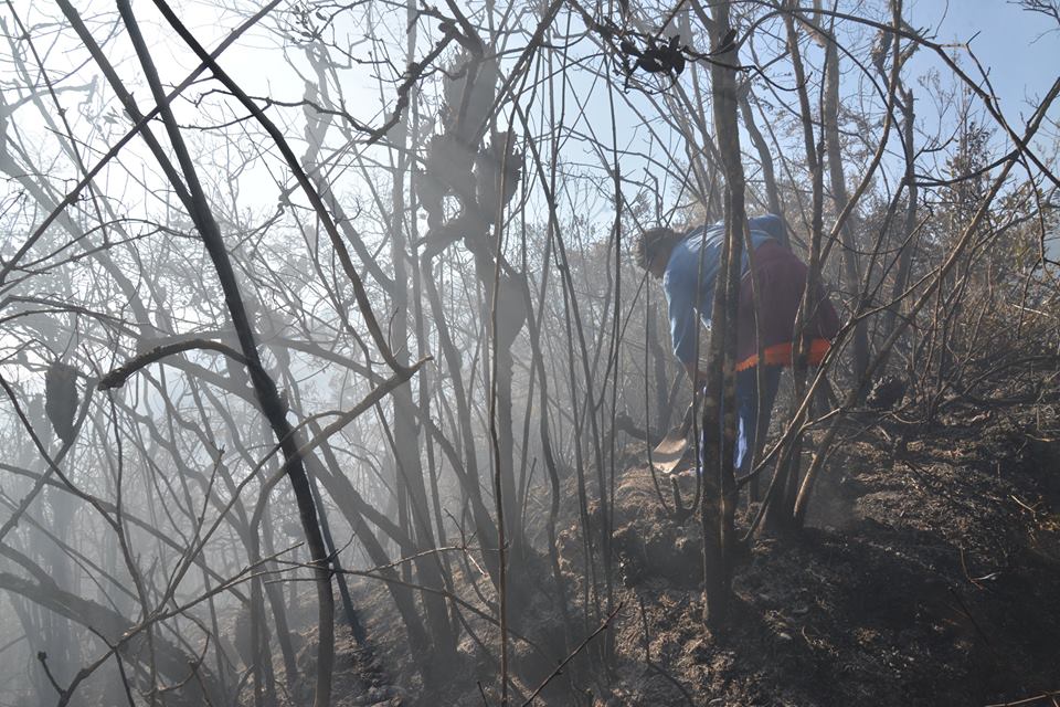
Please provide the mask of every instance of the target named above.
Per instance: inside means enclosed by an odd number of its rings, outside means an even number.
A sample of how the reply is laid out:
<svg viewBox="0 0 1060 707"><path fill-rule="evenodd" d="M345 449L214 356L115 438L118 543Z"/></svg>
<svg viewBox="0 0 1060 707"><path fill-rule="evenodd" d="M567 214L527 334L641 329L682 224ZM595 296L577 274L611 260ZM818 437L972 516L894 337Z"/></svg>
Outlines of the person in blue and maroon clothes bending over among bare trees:
<svg viewBox="0 0 1060 707"><path fill-rule="evenodd" d="M765 413L765 429L768 429L781 370L792 365L795 315L806 286L806 266L788 250L781 218L767 214L749 219L748 224L762 308L755 317L750 258L744 250L736 315L736 476L751 472L760 400ZM674 355L689 377L698 382L702 382L702 377L696 347L697 313L709 327L724 239L724 224L693 229L683 234L660 226L642 233L635 246L637 264L662 279ZM815 293L812 303L814 306L806 326L810 335L808 362L816 366L836 336L839 319L822 288ZM764 361L759 361L757 331L762 335ZM756 371L760 363L765 367L761 394Z"/></svg>

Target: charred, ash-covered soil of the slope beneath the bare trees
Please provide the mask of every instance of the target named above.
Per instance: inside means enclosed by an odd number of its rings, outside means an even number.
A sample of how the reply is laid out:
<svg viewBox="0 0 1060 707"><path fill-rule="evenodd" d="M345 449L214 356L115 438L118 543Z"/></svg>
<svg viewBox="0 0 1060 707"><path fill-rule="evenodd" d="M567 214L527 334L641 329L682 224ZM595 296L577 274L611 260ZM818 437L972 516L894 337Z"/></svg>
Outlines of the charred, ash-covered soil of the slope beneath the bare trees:
<svg viewBox="0 0 1060 707"><path fill-rule="evenodd" d="M1060 704L1058 426L1057 407L1041 404L957 411L931 425L862 424L829 460L809 527L795 539L756 539L736 567L732 627L720 636L701 619L699 520L675 525L644 460L630 456L615 499L623 609L608 627L612 677L586 676L580 657L534 704ZM576 505L569 497L564 506L561 564L577 601L582 544ZM742 508L738 525L746 521ZM547 558L540 573L550 573ZM529 620L527 633L554 631L549 592L540 593L541 625ZM388 603L375 583L359 584L358 597L361 606ZM385 679L373 678L378 701L367 698L356 688L365 682L349 675L357 661L340 653L337 704L484 704L476 683L490 683L497 666L474 642L465 639L466 664L449 687L427 693L393 616L368 614L370 634L384 636ZM585 633L577 623L575 641ZM495 647L491 626L474 625ZM518 673L524 652L513 650ZM520 678L523 695L540 675ZM579 680L575 693L560 689L568 678Z"/></svg>

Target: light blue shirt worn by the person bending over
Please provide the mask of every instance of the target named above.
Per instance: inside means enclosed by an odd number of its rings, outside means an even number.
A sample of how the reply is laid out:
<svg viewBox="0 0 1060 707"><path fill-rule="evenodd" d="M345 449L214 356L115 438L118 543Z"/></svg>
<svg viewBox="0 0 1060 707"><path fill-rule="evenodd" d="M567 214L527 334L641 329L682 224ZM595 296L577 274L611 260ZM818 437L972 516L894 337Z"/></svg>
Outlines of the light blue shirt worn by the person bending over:
<svg viewBox="0 0 1060 707"><path fill-rule="evenodd" d="M784 222L780 217L773 214L756 217L748 219L748 223L751 226L751 244L755 249L768 240L784 242ZM710 326L714 279L718 277L718 271L721 270L721 251L724 242L723 223L700 226L674 245L670 260L666 264L662 292L666 293L670 317L670 340L674 342L674 356L682 363L691 363L698 358L697 310L703 326ZM700 261L702 261L701 273ZM744 249L742 273L748 272L748 252Z"/></svg>

